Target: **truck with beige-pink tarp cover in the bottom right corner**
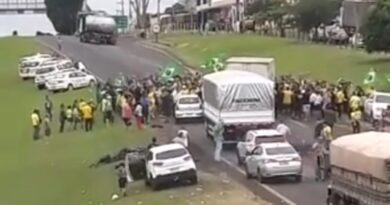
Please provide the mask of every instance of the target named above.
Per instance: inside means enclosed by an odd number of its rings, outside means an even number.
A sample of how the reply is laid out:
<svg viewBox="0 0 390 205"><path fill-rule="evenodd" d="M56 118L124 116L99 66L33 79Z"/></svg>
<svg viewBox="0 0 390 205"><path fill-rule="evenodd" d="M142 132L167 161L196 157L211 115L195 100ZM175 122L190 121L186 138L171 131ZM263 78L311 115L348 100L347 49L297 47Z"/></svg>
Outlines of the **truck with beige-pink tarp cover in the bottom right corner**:
<svg viewBox="0 0 390 205"><path fill-rule="evenodd" d="M332 141L328 204L390 204L390 133L365 132Z"/></svg>

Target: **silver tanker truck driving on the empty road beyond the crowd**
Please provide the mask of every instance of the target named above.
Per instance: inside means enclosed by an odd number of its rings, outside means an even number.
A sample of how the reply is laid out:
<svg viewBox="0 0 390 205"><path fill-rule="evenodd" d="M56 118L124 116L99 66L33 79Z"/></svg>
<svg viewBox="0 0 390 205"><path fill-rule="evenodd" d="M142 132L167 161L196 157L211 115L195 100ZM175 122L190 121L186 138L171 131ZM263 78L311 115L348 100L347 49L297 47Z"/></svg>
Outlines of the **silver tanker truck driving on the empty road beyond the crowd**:
<svg viewBox="0 0 390 205"><path fill-rule="evenodd" d="M80 23L80 41L115 45L118 32L114 18L106 15L86 15Z"/></svg>

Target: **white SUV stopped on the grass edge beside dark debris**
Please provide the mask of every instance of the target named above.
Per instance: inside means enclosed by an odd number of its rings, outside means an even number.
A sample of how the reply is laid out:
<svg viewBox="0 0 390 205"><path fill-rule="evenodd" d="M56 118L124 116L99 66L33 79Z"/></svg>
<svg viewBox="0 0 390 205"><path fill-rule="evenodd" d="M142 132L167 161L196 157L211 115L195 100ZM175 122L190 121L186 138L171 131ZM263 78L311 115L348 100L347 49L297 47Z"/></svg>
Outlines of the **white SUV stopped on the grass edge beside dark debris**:
<svg viewBox="0 0 390 205"><path fill-rule="evenodd" d="M183 180L198 183L195 162L186 148L172 143L153 147L148 151L145 183L153 190L165 183Z"/></svg>

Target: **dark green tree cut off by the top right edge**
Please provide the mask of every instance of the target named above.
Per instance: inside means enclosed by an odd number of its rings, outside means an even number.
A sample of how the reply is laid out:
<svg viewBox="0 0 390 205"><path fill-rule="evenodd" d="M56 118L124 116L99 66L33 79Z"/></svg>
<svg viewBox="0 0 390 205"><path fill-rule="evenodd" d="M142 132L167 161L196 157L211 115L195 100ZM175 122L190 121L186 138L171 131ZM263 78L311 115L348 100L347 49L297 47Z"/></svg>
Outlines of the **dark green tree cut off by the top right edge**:
<svg viewBox="0 0 390 205"><path fill-rule="evenodd" d="M363 26L363 41L367 52L389 51L390 45L390 1L378 0L376 7Z"/></svg>

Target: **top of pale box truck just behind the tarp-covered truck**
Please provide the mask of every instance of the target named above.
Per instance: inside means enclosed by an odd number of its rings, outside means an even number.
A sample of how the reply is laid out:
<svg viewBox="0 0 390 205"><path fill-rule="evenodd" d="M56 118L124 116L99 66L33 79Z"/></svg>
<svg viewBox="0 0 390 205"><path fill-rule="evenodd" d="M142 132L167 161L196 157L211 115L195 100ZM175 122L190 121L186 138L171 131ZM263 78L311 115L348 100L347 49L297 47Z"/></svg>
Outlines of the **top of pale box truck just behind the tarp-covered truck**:
<svg viewBox="0 0 390 205"><path fill-rule="evenodd" d="M274 58L231 57L226 60L225 69L248 71L275 81Z"/></svg>

